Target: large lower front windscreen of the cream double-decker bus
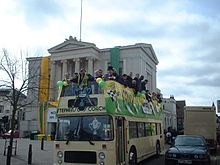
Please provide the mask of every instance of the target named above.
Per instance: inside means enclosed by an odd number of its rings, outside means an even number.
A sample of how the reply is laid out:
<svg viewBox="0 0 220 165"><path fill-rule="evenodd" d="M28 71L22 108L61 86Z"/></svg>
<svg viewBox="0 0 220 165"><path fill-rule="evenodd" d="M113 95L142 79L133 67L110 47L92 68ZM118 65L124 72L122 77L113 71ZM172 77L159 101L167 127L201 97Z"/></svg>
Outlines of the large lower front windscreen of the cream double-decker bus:
<svg viewBox="0 0 220 165"><path fill-rule="evenodd" d="M63 116L57 130L58 141L113 140L113 120L109 115Z"/></svg>

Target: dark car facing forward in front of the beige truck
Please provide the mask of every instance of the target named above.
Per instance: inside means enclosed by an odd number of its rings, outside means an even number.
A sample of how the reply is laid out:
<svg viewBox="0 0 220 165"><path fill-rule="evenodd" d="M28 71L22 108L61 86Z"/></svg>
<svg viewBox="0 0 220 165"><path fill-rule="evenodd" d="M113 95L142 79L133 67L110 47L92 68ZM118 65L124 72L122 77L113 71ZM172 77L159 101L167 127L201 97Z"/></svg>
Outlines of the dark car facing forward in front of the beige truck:
<svg viewBox="0 0 220 165"><path fill-rule="evenodd" d="M199 135L178 135L165 152L165 165L210 164L210 152L205 138Z"/></svg>

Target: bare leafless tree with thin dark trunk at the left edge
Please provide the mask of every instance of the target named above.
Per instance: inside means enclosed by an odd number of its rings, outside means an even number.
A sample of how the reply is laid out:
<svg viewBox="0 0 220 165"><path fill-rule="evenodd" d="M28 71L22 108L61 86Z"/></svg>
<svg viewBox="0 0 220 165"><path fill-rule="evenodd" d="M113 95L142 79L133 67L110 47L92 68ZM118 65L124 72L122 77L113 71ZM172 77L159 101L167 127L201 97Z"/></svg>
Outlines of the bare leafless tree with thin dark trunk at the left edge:
<svg viewBox="0 0 220 165"><path fill-rule="evenodd" d="M28 73L28 63L24 60L22 51L20 52L21 57L18 59L9 55L6 49L3 49L0 54L0 88L9 89L10 94L5 96L4 101L8 102L12 107L12 116L10 120L11 136L8 147L8 154L6 164L11 164L12 146L13 146L13 133L16 126L16 113L18 110L25 106L31 105L36 98L25 99L27 92L39 90L39 84L34 82L36 76ZM32 72L34 73L34 72ZM30 89L30 85L31 89ZM35 85L36 84L36 85Z"/></svg>

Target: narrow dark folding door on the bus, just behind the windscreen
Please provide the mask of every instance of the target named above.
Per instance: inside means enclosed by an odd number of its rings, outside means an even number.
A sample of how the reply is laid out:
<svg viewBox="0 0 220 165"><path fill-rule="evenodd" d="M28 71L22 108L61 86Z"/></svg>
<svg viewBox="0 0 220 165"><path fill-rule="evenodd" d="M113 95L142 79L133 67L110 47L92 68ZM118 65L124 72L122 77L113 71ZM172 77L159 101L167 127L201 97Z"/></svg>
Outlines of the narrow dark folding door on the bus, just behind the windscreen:
<svg viewBox="0 0 220 165"><path fill-rule="evenodd" d="M125 119L116 118L116 163L117 165L125 164Z"/></svg>

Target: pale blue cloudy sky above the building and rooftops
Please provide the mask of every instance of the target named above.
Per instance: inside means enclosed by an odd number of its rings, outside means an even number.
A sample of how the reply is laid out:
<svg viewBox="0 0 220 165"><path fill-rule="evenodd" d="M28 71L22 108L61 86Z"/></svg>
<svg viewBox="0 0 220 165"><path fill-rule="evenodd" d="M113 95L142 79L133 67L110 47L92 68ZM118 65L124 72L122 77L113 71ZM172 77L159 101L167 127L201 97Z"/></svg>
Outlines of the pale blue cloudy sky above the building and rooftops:
<svg viewBox="0 0 220 165"><path fill-rule="evenodd" d="M7 0L0 5L0 47L48 54L79 39L80 0ZM152 44L157 87L187 105L220 99L219 0L83 0L82 41L98 48Z"/></svg>

